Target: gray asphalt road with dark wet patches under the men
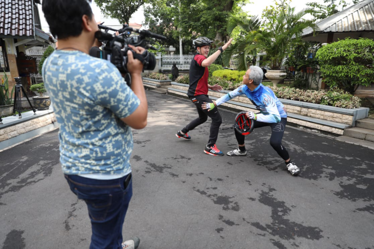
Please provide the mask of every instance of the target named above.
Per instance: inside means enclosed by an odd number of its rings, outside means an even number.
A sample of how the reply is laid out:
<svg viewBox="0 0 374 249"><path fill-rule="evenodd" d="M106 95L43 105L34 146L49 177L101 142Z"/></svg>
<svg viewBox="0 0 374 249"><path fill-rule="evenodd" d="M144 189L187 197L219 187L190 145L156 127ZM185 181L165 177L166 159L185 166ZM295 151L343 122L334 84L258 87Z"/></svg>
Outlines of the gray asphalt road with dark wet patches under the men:
<svg viewBox="0 0 374 249"><path fill-rule="evenodd" d="M245 157L203 153L210 119L184 99L147 91L148 125L134 130L134 195L124 237L140 249L374 249L373 150L287 127L294 177L269 144L270 128L246 137ZM221 110L223 123L235 113ZM85 203L70 192L57 130L0 152L0 248L88 248ZM235 148L232 129L217 146Z"/></svg>

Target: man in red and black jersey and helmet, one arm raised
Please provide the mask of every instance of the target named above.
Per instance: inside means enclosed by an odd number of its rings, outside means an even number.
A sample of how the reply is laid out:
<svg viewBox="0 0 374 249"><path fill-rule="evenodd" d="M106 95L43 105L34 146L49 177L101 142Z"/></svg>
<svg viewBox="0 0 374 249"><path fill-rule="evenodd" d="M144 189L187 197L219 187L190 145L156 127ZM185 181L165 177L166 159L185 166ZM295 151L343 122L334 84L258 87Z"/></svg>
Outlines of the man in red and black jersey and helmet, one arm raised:
<svg viewBox="0 0 374 249"><path fill-rule="evenodd" d="M197 49L197 54L193 57L191 65L189 67L189 88L188 98L196 106L198 118L191 121L183 129L179 130L176 134L177 137L190 140L191 137L187 134L188 131L194 129L197 125L203 124L208 117L211 118L210 134L208 143L205 146L204 152L208 155L223 156L223 153L217 148L215 142L217 141L219 126L222 123L222 118L219 115L218 109L214 108L210 112L202 109L204 102L212 103L208 96L208 89L213 91L221 91L222 87L218 84L214 86L208 85L208 66L212 64L217 57L223 53L224 50L231 44L230 39L222 47L212 55L208 56L210 44L213 42L206 37L200 36L193 41L194 46Z"/></svg>

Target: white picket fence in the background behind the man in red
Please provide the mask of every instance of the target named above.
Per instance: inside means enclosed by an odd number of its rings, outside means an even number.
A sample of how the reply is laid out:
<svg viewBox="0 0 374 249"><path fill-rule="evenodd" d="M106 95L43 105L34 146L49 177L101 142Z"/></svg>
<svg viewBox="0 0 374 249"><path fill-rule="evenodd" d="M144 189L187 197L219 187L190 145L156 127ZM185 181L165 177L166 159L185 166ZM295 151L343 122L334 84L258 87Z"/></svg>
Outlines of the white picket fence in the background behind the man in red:
<svg viewBox="0 0 374 249"><path fill-rule="evenodd" d="M161 68L162 70L171 70L173 64L176 64L179 70L188 70L194 56L194 54L184 54L181 58L180 55L162 55ZM236 69L236 63L232 58L229 67Z"/></svg>

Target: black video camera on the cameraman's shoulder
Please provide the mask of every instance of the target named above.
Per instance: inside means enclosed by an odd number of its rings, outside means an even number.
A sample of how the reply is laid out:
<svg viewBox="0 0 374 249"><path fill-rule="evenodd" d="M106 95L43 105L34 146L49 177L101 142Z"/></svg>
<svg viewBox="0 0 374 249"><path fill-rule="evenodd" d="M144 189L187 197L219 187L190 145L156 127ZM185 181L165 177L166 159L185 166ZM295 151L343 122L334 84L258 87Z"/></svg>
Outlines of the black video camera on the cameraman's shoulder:
<svg viewBox="0 0 374 249"><path fill-rule="evenodd" d="M138 59L143 63L143 70L153 70L156 67L156 57L153 53L150 53L147 49L158 50L152 44L152 40L147 40L147 37L156 38L159 40L166 40L163 35L155 34L149 30L139 30L137 28L129 27L129 25L123 25L123 28L117 30L104 25L98 25L100 29L104 29L106 32L96 31L95 37L103 42L103 59L106 59L113 63L118 70L129 76L127 70L127 51L132 51L134 59ZM112 35L107 33L108 30L118 31L119 35ZM139 35L130 36L131 32L136 32ZM140 46L146 50L142 54L135 53L128 45L135 47ZM130 81L130 82L129 82ZM127 84L131 84L131 79L126 80Z"/></svg>

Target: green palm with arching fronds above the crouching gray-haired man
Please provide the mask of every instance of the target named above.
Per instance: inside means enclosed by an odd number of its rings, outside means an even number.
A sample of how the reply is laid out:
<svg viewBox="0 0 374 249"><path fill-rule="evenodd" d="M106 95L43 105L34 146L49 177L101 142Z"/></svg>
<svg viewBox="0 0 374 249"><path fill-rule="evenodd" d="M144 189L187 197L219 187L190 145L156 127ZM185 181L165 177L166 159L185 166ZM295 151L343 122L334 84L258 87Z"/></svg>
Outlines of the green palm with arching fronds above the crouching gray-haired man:
<svg viewBox="0 0 374 249"><path fill-rule="evenodd" d="M223 62L227 65L227 59L229 60L231 55L236 54L238 70L246 70L246 56L255 55L257 51L261 51L266 53L264 61L268 63L270 69L280 69L282 60L289 52L291 45L301 39L303 29L311 27L314 32L318 30L313 21L303 19L303 16L311 11L312 9L307 8L295 13L294 7L285 4L278 14L268 16L267 28L259 28L257 17L252 17L251 20L256 20L256 25L247 28L248 33L244 37L235 40L231 48L227 49L227 53L223 54ZM235 20L232 19L232 23L228 24L229 33L232 32L233 27L244 28L240 20L236 20L236 26L234 22Z"/></svg>

